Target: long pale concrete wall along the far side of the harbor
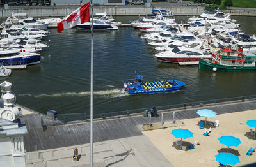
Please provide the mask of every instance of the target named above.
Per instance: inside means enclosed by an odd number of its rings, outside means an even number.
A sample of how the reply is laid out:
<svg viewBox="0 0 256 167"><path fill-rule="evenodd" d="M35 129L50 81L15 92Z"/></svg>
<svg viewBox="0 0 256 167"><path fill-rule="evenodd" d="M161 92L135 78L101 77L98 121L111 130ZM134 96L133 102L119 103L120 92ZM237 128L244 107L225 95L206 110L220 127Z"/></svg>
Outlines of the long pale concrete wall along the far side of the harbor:
<svg viewBox="0 0 256 167"><path fill-rule="evenodd" d="M0 10L0 17L6 18L14 13L27 13L31 17L63 17L76 10L78 6L52 6L38 8L11 8ZM159 7L158 7L159 8ZM108 15L147 15L151 13L152 7L145 6L94 6L93 13L104 13ZM174 15L200 15L204 7L166 6L161 10L173 11Z"/></svg>

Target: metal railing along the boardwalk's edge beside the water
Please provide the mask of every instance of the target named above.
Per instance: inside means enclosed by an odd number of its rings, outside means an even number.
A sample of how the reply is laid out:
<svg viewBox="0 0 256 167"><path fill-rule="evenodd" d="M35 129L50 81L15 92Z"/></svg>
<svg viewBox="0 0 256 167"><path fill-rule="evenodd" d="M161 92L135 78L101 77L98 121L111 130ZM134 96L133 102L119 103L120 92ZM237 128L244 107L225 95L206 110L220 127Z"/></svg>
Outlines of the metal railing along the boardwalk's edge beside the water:
<svg viewBox="0 0 256 167"><path fill-rule="evenodd" d="M225 105L230 103L243 103L245 101L252 101L252 100L256 100L256 95L196 101L196 102L180 103L180 104L166 105L166 106L156 106L156 109L158 112L164 113L164 112L173 112L176 110L186 110L189 108L190 109L201 108L201 107L207 107L207 106ZM125 110L120 112L98 113L93 116L95 121L105 120L105 119L124 118L124 117L141 115L145 110L149 110L149 109L150 107L140 108L135 110ZM42 124L43 131L47 126L57 126L57 125L72 124L77 122L88 122L89 120L90 120L90 114L86 112L57 114L57 115L54 115L54 117L47 117L46 115L41 115L41 124Z"/></svg>

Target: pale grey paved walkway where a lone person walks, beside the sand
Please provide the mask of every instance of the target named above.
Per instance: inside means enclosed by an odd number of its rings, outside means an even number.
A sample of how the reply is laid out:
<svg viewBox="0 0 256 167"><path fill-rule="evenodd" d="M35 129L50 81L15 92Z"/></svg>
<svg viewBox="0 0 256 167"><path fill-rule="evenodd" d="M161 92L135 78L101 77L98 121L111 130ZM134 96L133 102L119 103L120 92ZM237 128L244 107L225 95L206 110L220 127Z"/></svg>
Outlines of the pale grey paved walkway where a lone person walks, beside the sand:
<svg viewBox="0 0 256 167"><path fill-rule="evenodd" d="M79 161L72 161L75 147L77 147L78 153L81 155ZM90 144L40 150L38 152L27 152L26 166L90 166ZM143 135L95 143L94 166L172 167L173 165L159 152L154 144Z"/></svg>

